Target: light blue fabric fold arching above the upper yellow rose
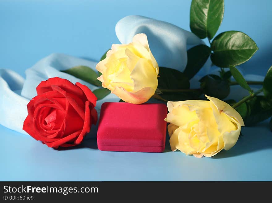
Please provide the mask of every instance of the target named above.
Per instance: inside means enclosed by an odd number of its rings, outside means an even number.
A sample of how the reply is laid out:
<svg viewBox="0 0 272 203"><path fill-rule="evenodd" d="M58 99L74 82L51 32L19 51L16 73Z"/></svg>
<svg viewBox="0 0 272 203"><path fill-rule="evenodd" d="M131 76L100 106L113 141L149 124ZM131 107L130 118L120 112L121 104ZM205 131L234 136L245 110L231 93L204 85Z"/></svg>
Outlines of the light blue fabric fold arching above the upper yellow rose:
<svg viewBox="0 0 272 203"><path fill-rule="evenodd" d="M187 64L187 49L205 44L195 34L168 22L129 15L118 21L115 32L122 44L132 41L134 35L145 33L150 49L159 66L184 71ZM208 61L203 70L209 70Z"/></svg>

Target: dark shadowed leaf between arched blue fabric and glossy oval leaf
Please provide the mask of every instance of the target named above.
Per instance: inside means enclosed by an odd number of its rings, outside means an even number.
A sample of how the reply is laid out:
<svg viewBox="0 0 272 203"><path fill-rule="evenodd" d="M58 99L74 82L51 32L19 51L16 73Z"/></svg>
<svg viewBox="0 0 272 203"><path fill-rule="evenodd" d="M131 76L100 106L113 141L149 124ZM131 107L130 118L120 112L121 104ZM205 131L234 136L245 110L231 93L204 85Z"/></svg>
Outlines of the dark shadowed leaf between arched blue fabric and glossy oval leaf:
<svg viewBox="0 0 272 203"><path fill-rule="evenodd" d="M188 79L193 78L198 73L209 58L210 52L210 47L204 44L199 44L187 51L187 66L183 73Z"/></svg>

